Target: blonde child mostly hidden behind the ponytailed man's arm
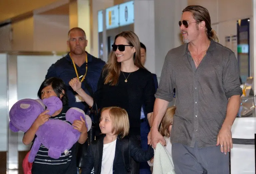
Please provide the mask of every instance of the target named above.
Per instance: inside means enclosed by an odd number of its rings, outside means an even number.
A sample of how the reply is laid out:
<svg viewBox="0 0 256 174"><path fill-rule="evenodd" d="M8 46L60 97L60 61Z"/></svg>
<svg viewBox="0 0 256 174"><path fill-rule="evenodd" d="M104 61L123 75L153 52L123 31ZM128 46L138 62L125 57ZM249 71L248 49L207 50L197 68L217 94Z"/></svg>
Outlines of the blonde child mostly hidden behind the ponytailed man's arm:
<svg viewBox="0 0 256 174"><path fill-rule="evenodd" d="M170 155L172 155L172 144L170 142L170 134L172 130L172 124L173 124L173 116L175 114L176 106L168 107L164 117L159 125L158 131L160 134L164 137L166 141L166 150L169 152ZM153 166L154 158L152 158L150 161L148 161L149 166Z"/></svg>

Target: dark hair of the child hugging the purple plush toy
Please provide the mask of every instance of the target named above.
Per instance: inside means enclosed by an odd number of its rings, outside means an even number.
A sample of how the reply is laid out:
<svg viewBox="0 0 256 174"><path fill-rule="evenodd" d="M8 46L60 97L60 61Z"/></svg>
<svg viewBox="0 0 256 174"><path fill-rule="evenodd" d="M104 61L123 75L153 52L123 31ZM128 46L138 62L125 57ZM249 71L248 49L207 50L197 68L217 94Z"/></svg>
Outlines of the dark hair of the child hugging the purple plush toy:
<svg viewBox="0 0 256 174"><path fill-rule="evenodd" d="M67 92L66 92L66 87L65 87L65 83L63 82L63 80L57 78L57 77L51 77L49 79L45 79L43 81L43 83L41 84L38 92L37 92L37 96L38 98L41 98L41 92L42 90L47 87L50 86L52 87L53 91L57 94L57 97L60 98L60 95L62 94L63 97L61 98L62 104L63 105L67 105L68 104L68 96L67 96ZM63 91L64 94L63 94Z"/></svg>

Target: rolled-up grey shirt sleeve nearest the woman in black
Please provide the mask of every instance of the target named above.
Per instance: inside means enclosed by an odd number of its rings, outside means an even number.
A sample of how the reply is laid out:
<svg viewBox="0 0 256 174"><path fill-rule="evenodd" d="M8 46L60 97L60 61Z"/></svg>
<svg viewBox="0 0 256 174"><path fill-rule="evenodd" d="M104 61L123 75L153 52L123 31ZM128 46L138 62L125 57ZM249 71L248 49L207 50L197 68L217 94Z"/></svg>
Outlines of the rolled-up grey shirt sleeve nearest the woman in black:
<svg viewBox="0 0 256 174"><path fill-rule="evenodd" d="M155 97L171 102L173 100L173 88L173 69L171 66L171 53L169 51L165 56L159 87L156 91Z"/></svg>

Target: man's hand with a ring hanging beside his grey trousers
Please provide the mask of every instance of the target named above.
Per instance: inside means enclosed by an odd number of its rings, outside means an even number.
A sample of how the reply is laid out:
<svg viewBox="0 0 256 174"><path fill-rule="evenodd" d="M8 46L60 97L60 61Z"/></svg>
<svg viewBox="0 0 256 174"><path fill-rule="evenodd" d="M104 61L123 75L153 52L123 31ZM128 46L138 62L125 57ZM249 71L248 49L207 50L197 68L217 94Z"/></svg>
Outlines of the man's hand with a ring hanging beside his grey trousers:
<svg viewBox="0 0 256 174"><path fill-rule="evenodd" d="M230 149L233 148L231 128L228 126L221 127L217 136L216 146L218 145L220 145L221 153L224 152L225 155L227 155L227 152L230 152Z"/></svg>

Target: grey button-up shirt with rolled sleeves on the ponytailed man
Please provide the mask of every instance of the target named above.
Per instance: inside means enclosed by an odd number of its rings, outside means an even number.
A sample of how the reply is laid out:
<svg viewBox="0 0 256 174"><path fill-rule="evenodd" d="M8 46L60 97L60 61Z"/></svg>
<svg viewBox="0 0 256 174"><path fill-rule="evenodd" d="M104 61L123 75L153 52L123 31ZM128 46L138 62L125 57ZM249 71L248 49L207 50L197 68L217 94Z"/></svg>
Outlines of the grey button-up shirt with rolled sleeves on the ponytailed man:
<svg viewBox="0 0 256 174"><path fill-rule="evenodd" d="M156 98L173 100L177 109L171 142L194 147L215 146L226 117L228 98L242 95L235 54L211 40L198 68L188 44L170 50L164 61Z"/></svg>

